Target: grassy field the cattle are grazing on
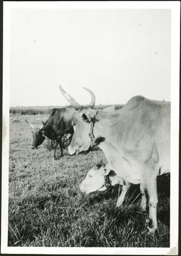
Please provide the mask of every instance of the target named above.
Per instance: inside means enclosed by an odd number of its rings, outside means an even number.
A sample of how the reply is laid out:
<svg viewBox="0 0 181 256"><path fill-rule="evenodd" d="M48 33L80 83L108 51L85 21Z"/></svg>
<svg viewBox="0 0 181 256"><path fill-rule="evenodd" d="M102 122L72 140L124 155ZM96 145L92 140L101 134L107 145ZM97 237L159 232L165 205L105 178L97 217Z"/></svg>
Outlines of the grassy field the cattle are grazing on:
<svg viewBox="0 0 181 256"><path fill-rule="evenodd" d="M52 160L45 141L31 149L28 121L41 115L10 115L9 246L169 247L170 177L158 178L158 233L149 235L139 209L140 190L129 189L124 207L115 207L119 187L85 195L79 184L99 160L100 150Z"/></svg>

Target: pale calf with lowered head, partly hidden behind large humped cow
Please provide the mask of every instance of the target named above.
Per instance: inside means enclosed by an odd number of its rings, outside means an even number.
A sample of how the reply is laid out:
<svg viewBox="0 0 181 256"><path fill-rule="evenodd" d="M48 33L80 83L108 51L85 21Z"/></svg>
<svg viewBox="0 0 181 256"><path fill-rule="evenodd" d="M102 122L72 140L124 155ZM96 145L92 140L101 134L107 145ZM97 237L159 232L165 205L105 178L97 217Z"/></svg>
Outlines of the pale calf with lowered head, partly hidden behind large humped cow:
<svg viewBox="0 0 181 256"><path fill-rule="evenodd" d="M104 191L110 185L114 186L116 184L122 185L121 195L117 199L116 206L121 207L123 204L125 195L131 186L131 183L124 180L122 177L117 176L115 172L111 169L110 164L98 163L94 166L86 175L86 178L82 181L80 189L82 192L89 194L94 191ZM142 185L140 184L141 191L141 210L146 210L146 196Z"/></svg>

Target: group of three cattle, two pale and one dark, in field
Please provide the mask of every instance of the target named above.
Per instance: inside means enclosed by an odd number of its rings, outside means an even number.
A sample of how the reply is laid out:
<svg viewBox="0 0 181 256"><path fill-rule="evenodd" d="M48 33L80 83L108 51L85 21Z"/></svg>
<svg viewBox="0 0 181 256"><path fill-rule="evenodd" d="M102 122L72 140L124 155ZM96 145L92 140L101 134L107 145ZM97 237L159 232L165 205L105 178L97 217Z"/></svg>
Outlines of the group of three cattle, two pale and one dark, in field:
<svg viewBox="0 0 181 256"><path fill-rule="evenodd" d="M170 173L170 102L154 101L142 96L131 98L121 108L94 109L95 96L90 89L91 102L79 105L60 86L69 101L68 108L52 109L48 120L32 128L35 149L45 137L60 145L68 135L69 154L79 154L99 146L107 162L96 164L82 181L82 192L104 191L110 185L122 185L117 207L121 207L131 183L140 184L141 210L149 208L148 231L157 229L157 176ZM56 158L56 147L54 149Z"/></svg>

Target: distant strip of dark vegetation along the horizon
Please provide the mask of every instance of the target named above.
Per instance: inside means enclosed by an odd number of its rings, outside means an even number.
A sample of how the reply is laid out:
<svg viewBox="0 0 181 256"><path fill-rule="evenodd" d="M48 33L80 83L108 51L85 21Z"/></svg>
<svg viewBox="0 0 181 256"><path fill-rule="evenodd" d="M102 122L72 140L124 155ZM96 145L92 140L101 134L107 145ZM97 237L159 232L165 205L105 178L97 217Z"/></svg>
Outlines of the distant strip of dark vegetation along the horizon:
<svg viewBox="0 0 181 256"><path fill-rule="evenodd" d="M95 109L105 109L113 105L95 105ZM123 108L123 104L115 104L116 110ZM68 106L65 106L66 108ZM31 107L10 107L10 114L19 114L19 115L36 115L36 114L49 114L50 110L53 108L64 108L64 106L31 106Z"/></svg>

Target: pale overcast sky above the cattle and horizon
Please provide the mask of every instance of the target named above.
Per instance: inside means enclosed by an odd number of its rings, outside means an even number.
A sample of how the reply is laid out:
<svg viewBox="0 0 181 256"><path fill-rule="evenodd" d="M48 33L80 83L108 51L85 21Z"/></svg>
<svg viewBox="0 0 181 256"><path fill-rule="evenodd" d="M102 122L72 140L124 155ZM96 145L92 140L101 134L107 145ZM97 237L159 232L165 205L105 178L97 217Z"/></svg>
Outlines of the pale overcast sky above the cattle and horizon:
<svg viewBox="0 0 181 256"><path fill-rule="evenodd" d="M10 106L170 101L169 9L11 9Z"/></svg>

